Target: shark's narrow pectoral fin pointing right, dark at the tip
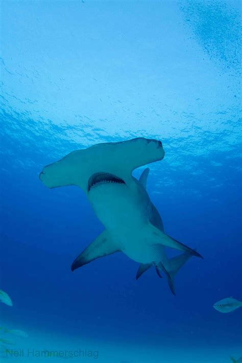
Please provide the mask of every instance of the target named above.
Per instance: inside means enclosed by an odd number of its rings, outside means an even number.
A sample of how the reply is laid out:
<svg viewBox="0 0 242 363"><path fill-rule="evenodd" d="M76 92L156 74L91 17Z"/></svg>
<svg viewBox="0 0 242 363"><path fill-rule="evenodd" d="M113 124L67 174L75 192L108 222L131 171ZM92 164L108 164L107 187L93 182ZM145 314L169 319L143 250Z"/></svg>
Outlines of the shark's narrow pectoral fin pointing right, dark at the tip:
<svg viewBox="0 0 242 363"><path fill-rule="evenodd" d="M154 238L153 245L162 244L163 246L179 249L183 252L188 252L192 256L203 258L197 251L166 235L164 232L158 230L153 224L149 223L149 226L151 229L152 237Z"/></svg>

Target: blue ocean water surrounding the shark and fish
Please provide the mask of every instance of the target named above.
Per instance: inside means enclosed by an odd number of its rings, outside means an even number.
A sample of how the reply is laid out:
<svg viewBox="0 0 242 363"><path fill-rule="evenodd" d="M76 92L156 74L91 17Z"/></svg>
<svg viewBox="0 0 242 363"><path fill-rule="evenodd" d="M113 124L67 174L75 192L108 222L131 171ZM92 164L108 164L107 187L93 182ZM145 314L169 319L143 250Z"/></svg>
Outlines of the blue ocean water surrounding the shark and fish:
<svg viewBox="0 0 242 363"><path fill-rule="evenodd" d="M226 363L242 355L240 3L2 1L1 361ZM161 140L147 190L165 231L204 260L176 297L124 254L70 271L104 229L78 187L42 168L102 142ZM144 167L134 171L139 177ZM1 340L0 340L1 342Z"/></svg>

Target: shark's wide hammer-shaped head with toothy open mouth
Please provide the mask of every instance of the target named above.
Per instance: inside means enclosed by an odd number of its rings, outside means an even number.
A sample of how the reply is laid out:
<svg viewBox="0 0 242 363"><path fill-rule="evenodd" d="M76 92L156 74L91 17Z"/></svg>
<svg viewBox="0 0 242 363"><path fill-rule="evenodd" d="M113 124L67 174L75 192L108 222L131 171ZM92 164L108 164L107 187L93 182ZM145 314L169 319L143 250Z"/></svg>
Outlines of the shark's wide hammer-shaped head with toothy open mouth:
<svg viewBox="0 0 242 363"><path fill-rule="evenodd" d="M137 138L117 143L96 144L64 156L47 165L39 175L48 188L77 185L88 194L101 184L132 182L132 171L140 166L162 160L160 141Z"/></svg>

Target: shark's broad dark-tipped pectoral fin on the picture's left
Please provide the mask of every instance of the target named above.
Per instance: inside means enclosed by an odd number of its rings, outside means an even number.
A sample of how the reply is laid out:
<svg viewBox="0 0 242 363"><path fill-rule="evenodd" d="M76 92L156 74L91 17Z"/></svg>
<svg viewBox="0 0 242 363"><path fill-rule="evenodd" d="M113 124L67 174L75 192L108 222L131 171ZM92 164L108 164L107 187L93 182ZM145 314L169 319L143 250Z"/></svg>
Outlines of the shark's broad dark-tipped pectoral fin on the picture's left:
<svg viewBox="0 0 242 363"><path fill-rule="evenodd" d="M112 241L109 233L105 230L76 258L71 265L71 271L97 258L119 251L121 251L119 245Z"/></svg>

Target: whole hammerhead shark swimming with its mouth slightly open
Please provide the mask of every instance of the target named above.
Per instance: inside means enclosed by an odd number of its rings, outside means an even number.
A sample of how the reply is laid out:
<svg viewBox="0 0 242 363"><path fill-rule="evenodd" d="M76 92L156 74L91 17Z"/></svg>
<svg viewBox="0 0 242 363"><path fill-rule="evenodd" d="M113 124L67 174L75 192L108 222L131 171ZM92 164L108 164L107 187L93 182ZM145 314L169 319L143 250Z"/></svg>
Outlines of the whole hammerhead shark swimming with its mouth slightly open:
<svg viewBox="0 0 242 363"><path fill-rule="evenodd" d="M161 271L165 273L175 295L177 271L191 256L203 257L164 233L162 219L146 190L149 168L139 180L132 176L134 169L163 157L161 141L136 138L77 150L43 168L39 178L46 187L82 188L105 226L72 263L72 271L97 258L123 252L140 263L136 279L155 266L160 277ZM183 254L168 259L165 247L178 249Z"/></svg>

